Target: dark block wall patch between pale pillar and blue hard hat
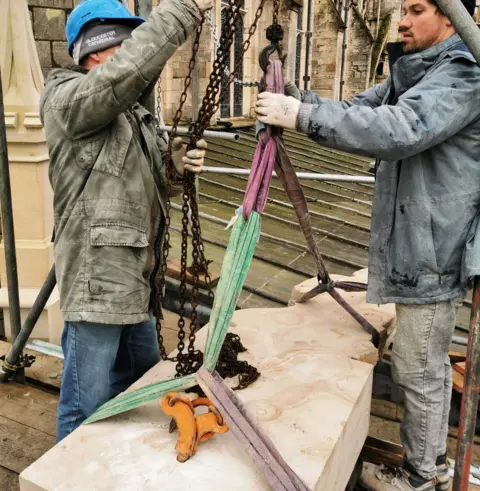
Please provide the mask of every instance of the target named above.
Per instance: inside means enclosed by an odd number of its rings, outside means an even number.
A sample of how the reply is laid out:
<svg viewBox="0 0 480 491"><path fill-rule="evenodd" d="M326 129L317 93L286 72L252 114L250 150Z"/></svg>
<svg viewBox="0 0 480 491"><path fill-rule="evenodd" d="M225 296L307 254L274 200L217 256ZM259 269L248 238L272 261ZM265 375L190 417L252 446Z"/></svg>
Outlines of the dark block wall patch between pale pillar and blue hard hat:
<svg viewBox="0 0 480 491"><path fill-rule="evenodd" d="M74 0L28 0L42 71L67 66L72 59L67 52L65 23L74 7Z"/></svg>

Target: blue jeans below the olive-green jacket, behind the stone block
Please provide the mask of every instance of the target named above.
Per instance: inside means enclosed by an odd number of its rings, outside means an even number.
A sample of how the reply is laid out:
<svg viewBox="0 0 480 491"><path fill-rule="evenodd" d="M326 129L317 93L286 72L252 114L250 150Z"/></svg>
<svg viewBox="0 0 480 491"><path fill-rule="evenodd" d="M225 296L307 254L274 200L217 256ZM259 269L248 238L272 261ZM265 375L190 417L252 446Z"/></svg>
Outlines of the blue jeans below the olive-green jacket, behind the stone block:
<svg viewBox="0 0 480 491"><path fill-rule="evenodd" d="M57 442L160 361L155 319L111 325L65 322Z"/></svg>

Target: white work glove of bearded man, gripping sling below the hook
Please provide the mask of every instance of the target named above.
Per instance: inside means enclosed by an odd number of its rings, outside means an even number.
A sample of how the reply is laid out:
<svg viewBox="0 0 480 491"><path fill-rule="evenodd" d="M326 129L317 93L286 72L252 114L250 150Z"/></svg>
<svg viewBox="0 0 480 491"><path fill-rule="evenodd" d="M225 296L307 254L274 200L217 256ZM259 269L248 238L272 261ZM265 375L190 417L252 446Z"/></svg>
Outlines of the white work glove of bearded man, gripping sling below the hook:
<svg viewBox="0 0 480 491"><path fill-rule="evenodd" d="M258 94L255 114L263 124L294 130L297 126L297 116L301 105L302 103L293 97L262 92Z"/></svg>

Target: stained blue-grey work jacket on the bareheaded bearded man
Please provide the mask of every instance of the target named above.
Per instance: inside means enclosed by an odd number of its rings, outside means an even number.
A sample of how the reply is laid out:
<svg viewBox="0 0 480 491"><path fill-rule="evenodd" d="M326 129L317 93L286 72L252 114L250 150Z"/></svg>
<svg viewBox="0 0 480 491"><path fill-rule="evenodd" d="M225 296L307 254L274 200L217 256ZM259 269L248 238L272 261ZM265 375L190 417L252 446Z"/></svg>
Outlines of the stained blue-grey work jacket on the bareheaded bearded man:
<svg viewBox="0 0 480 491"><path fill-rule="evenodd" d="M465 294L480 274L480 67L459 36L401 56L385 83L351 101L303 101L299 131L379 160L367 300Z"/></svg>

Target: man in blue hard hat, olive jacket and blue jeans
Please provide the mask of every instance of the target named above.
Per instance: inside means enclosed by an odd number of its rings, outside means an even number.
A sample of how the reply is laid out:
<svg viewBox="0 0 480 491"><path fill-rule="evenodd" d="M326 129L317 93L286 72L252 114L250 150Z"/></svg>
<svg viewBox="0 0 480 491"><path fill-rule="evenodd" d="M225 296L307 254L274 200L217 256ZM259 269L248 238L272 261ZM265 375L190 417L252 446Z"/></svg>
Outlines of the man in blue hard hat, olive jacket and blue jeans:
<svg viewBox="0 0 480 491"><path fill-rule="evenodd" d="M205 142L189 153L175 142L169 188L168 137L143 103L211 6L165 0L145 22L117 0L85 0L66 29L76 66L47 77L40 105L65 321L57 441L160 360L151 286L167 189L180 189L185 170L200 171Z"/></svg>

